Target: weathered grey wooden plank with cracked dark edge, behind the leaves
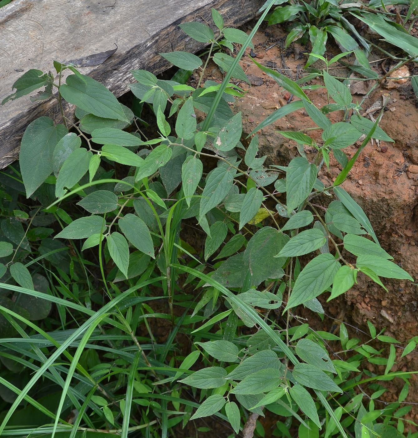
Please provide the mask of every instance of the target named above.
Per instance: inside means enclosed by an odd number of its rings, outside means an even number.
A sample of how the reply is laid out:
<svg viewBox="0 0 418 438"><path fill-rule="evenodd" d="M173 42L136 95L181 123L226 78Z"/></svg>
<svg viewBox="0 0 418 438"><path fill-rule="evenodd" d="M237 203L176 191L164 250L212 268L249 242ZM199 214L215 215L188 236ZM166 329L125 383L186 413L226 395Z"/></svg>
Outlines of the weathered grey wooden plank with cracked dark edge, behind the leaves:
<svg viewBox="0 0 418 438"><path fill-rule="evenodd" d="M52 61L118 50L98 67L80 71L116 96L134 82L132 69L158 74L169 64L158 53L196 52L204 44L190 39L178 25L184 21L212 24L211 8L225 24L238 26L253 18L262 0L16 0L0 9L0 100L25 71L53 71ZM213 28L213 26L212 26ZM35 94L32 93L32 94ZM24 96L0 107L0 169L18 158L21 137L40 116L61 115L56 99L31 102ZM73 106L65 103L66 116Z"/></svg>

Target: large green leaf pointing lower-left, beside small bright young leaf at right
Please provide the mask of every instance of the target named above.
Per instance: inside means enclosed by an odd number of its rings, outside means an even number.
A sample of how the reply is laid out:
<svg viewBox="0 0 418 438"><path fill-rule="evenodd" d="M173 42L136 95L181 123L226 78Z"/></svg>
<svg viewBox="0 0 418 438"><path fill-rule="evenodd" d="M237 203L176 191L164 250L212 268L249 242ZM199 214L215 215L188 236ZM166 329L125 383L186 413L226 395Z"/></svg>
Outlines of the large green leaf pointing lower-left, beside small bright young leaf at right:
<svg viewBox="0 0 418 438"><path fill-rule="evenodd" d="M332 254L320 254L313 258L296 279L285 310L306 303L324 292L331 286L339 267Z"/></svg>

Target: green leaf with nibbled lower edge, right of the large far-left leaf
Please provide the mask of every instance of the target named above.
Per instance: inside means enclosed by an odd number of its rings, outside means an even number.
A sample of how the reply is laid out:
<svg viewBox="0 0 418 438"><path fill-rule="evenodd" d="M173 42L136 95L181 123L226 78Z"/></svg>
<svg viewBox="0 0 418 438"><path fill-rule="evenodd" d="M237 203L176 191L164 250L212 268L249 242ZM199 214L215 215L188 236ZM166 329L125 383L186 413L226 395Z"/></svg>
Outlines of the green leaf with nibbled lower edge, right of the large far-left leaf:
<svg viewBox="0 0 418 438"><path fill-rule="evenodd" d="M66 189L71 189L87 173L90 159L93 156L91 151L78 148L68 156L59 170L55 184L55 196L61 198L66 194Z"/></svg>

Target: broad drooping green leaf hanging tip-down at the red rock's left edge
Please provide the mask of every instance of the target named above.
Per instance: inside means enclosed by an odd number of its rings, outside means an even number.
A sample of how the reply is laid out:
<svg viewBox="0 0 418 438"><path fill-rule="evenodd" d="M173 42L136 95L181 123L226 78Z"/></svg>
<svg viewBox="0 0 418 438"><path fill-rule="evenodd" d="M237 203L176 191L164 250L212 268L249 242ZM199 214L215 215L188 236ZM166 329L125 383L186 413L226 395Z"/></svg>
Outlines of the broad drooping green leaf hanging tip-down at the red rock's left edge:
<svg viewBox="0 0 418 438"><path fill-rule="evenodd" d="M309 196L317 179L317 166L305 157L293 158L286 173L287 211L290 214Z"/></svg>

